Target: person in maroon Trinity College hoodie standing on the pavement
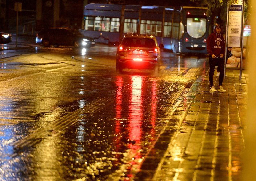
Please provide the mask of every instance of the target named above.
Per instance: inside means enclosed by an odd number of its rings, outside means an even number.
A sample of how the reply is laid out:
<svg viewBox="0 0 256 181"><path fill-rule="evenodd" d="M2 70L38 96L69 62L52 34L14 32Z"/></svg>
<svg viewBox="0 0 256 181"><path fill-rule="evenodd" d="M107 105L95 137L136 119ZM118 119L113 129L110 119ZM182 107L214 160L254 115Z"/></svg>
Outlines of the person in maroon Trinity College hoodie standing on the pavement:
<svg viewBox="0 0 256 181"><path fill-rule="evenodd" d="M210 93L212 92L226 92L222 87L223 77L224 77L224 54L225 54L225 40L221 34L221 25L216 25L214 32L211 33L207 39L207 51L209 53L209 82L210 82ZM213 74L215 66L220 68L219 76L219 88L215 89L213 86Z"/></svg>

